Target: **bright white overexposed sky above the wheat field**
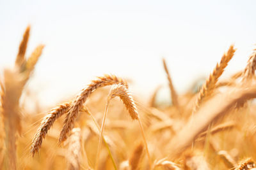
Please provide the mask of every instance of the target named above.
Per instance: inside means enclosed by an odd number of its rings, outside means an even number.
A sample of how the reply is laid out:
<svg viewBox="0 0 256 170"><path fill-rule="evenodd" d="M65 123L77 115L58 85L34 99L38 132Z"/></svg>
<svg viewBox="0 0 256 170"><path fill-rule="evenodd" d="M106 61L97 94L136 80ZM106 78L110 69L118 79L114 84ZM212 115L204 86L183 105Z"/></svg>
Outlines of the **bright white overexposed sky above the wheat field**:
<svg viewBox="0 0 256 170"><path fill-rule="evenodd" d="M256 1L0 1L0 70L12 66L28 24L27 55L43 43L29 87L46 105L74 96L95 76L131 79L134 94L177 90L207 76L232 43L227 75L246 65L256 43Z"/></svg>

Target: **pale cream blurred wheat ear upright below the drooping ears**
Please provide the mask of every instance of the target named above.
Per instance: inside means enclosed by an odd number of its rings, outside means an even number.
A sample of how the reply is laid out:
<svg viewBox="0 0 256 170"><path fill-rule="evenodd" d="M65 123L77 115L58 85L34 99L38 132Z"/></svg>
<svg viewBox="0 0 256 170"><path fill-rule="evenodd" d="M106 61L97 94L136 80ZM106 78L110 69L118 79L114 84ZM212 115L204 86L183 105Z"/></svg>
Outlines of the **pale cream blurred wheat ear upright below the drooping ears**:
<svg viewBox="0 0 256 170"><path fill-rule="evenodd" d="M73 128L68 139L68 169L79 170L81 164L81 129Z"/></svg>

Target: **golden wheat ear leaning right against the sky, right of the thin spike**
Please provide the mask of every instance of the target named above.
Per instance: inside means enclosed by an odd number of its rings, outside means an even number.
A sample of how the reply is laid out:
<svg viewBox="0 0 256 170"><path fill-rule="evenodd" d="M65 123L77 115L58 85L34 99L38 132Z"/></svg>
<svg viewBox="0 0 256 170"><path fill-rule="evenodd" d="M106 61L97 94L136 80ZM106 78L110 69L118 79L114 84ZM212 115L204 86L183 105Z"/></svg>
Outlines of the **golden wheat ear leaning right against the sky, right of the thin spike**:
<svg viewBox="0 0 256 170"><path fill-rule="evenodd" d="M200 104L206 97L211 96L218 79L223 73L225 67L227 67L228 62L232 59L235 52L236 50L234 49L234 45L230 45L228 52L224 53L224 55L221 57L220 64L217 63L216 67L209 75L204 85L201 87L199 95L196 99L195 106L193 108L193 113L195 113L198 110Z"/></svg>

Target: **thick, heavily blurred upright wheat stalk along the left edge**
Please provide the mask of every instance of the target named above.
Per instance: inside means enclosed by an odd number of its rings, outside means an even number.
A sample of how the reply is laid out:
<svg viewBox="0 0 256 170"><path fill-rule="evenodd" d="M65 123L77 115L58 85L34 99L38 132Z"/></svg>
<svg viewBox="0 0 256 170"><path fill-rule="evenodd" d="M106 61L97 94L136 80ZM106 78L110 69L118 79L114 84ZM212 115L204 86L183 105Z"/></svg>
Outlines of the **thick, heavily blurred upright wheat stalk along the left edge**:
<svg viewBox="0 0 256 170"><path fill-rule="evenodd" d="M4 70L4 80L1 83L1 113L5 129L5 145L8 164L16 169L16 133L21 132L19 98L22 92L22 79L17 71Z"/></svg>

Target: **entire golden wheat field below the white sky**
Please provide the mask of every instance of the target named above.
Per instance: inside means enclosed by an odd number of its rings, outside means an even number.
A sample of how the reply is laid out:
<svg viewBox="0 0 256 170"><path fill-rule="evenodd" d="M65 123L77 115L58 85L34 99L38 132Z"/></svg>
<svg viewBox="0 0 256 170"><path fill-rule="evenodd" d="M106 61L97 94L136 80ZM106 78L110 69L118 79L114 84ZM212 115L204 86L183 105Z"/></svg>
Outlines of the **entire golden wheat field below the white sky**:
<svg viewBox="0 0 256 170"><path fill-rule="evenodd" d="M163 59L168 107L156 103L159 88L142 104L127 81L105 74L70 101L31 114L20 97L29 96L44 45L25 57L29 31L1 77L0 169L256 169L255 50L244 70L219 80L236 52L231 45L204 85L182 95Z"/></svg>

